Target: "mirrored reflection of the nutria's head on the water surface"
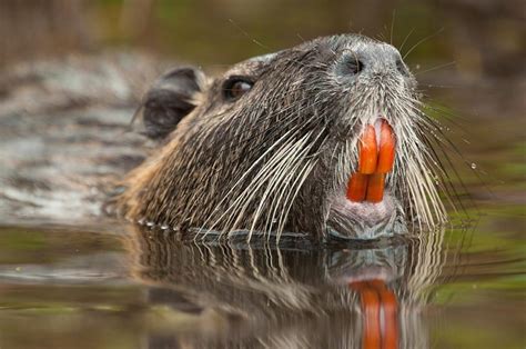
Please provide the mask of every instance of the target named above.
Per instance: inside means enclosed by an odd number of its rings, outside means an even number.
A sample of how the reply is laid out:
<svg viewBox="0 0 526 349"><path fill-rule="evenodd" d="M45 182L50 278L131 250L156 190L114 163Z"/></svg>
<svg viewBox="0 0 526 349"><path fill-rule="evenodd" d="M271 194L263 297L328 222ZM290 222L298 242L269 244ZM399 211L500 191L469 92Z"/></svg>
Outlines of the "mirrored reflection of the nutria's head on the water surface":
<svg viewBox="0 0 526 349"><path fill-rule="evenodd" d="M136 231L128 246L134 278L149 285L150 348L426 348L421 315L443 235L271 248ZM194 321L181 328L182 315Z"/></svg>

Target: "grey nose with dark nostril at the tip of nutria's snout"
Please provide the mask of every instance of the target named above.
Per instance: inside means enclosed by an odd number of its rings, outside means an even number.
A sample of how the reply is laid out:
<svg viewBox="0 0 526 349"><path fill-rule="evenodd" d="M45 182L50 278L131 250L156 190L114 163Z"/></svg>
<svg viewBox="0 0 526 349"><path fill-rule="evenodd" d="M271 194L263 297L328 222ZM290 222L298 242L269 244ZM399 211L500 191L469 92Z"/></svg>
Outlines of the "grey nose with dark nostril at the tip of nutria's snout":
<svg viewBox="0 0 526 349"><path fill-rule="evenodd" d="M377 43L342 50L336 66L336 73L347 78L388 73L407 77L409 71L395 48L390 44Z"/></svg>

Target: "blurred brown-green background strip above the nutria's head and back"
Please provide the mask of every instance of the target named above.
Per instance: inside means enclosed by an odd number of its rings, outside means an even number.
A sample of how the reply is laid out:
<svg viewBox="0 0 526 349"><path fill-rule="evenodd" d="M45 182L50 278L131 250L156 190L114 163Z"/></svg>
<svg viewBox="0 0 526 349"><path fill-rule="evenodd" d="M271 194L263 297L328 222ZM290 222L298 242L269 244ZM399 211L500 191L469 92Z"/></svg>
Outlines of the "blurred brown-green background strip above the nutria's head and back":
<svg viewBox="0 0 526 349"><path fill-rule="evenodd" d="M143 49L221 68L340 32L392 41L409 63L454 60L471 78L515 76L522 0L10 0L0 2L0 68L17 61ZM405 43L403 44L403 42ZM522 68L524 70L524 68Z"/></svg>

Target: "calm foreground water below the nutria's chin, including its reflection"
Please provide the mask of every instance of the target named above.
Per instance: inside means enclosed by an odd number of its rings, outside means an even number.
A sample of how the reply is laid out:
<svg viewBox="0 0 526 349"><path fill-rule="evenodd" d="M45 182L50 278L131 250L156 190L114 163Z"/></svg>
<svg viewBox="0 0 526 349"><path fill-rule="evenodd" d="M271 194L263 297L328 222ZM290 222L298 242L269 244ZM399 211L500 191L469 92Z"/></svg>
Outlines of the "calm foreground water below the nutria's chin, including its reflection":
<svg viewBox="0 0 526 349"><path fill-rule="evenodd" d="M503 217L504 215L504 217ZM2 348L520 348L524 247L496 221L374 246L0 230Z"/></svg>

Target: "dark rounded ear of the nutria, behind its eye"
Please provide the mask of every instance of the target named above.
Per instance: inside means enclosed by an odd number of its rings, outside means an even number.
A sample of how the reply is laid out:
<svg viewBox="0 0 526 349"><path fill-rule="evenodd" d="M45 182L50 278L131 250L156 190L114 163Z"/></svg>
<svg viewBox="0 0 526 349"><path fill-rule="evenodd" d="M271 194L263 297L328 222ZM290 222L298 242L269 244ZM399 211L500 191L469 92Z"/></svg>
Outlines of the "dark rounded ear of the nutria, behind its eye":
<svg viewBox="0 0 526 349"><path fill-rule="evenodd" d="M165 72L146 92L133 128L151 139L165 138L196 107L204 83L205 76L196 68Z"/></svg>

